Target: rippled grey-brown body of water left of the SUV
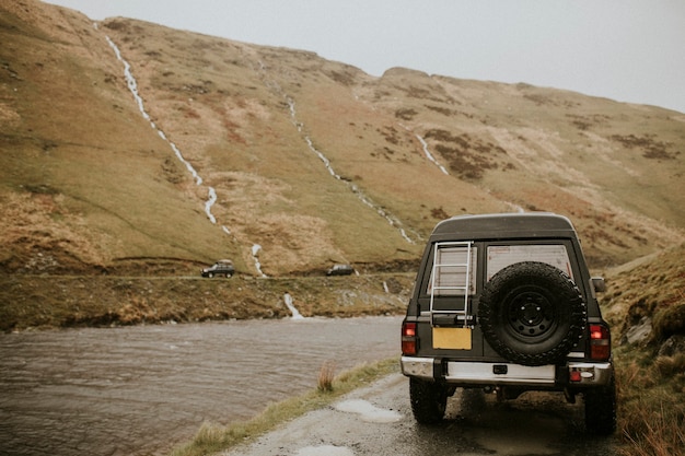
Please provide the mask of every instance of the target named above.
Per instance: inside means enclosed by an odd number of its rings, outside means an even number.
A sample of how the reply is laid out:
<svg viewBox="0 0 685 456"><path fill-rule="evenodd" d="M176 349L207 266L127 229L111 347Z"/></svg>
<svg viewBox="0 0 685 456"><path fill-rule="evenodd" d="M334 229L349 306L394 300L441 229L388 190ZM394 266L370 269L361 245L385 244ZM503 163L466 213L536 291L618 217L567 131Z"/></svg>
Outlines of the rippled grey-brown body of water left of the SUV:
<svg viewBox="0 0 685 456"><path fill-rule="evenodd" d="M162 455L336 372L399 355L399 318L0 335L0 454Z"/></svg>

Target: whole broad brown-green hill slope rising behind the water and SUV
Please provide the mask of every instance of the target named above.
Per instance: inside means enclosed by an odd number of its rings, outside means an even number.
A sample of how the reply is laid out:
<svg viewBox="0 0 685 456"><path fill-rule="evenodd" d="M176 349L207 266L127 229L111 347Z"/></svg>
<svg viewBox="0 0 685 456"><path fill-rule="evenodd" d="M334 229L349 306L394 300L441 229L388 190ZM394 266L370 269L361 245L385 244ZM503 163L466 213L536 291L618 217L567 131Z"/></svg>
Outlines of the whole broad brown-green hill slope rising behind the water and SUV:
<svg viewBox="0 0 685 456"><path fill-rule="evenodd" d="M439 220L515 210L569 215L594 267L683 241L682 113L32 0L0 40L5 272L402 269Z"/></svg>

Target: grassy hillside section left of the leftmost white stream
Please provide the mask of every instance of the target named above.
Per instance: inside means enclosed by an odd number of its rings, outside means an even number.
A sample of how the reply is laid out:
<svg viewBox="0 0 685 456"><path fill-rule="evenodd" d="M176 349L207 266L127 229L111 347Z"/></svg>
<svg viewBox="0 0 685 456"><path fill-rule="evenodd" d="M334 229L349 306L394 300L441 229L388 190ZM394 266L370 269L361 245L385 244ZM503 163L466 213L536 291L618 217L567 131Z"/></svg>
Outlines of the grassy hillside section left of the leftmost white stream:
<svg viewBox="0 0 685 456"><path fill-rule="evenodd" d="M217 247L219 230L137 110L104 35L72 11L9 3L0 14L2 269L233 253L230 242Z"/></svg>

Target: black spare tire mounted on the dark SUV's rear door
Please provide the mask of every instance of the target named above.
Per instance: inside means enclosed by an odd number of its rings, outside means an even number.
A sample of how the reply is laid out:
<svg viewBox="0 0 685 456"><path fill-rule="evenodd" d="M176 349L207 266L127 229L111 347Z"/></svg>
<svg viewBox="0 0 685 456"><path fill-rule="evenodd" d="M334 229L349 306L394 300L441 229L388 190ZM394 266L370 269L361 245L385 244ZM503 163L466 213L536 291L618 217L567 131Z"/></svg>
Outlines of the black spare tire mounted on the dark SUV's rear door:
<svg viewBox="0 0 685 456"><path fill-rule="evenodd" d="M545 262L506 267L485 285L478 323L485 339L516 364L564 360L585 328L583 297L573 280Z"/></svg>

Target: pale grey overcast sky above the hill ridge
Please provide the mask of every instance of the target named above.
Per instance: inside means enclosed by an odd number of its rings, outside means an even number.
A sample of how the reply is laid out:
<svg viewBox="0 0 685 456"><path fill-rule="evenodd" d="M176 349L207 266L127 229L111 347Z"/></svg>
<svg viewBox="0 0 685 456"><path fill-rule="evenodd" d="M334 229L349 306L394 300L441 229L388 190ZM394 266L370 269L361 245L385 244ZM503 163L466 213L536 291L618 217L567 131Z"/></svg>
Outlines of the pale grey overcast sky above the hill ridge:
<svg viewBox="0 0 685 456"><path fill-rule="evenodd" d="M567 89L685 113L684 0L49 0L240 42L313 50L373 75Z"/></svg>

